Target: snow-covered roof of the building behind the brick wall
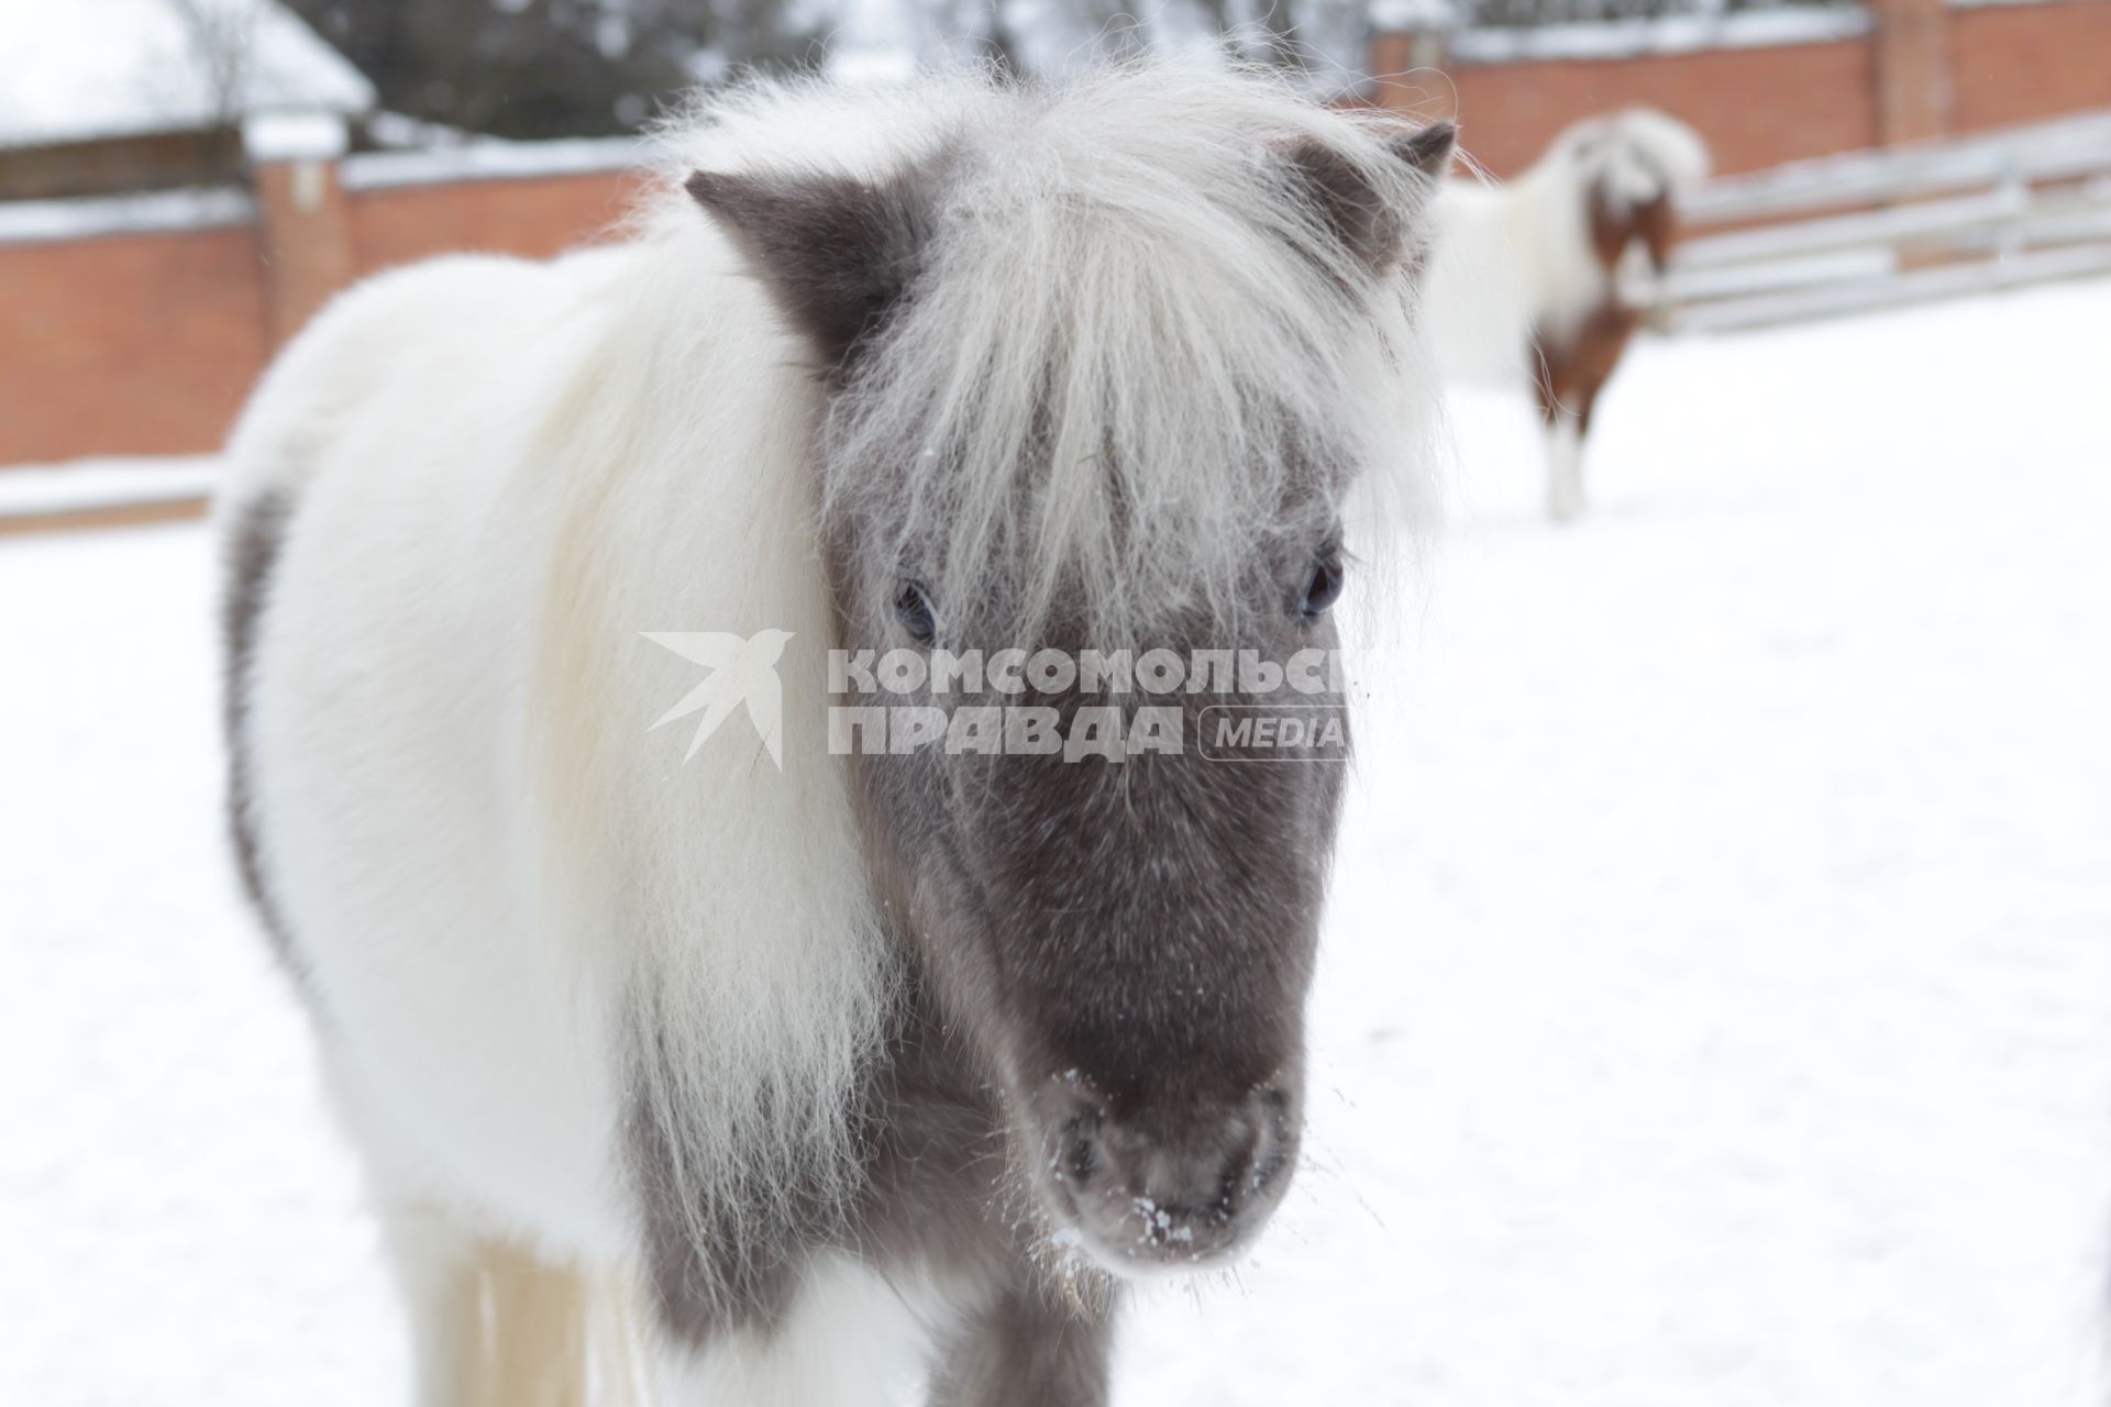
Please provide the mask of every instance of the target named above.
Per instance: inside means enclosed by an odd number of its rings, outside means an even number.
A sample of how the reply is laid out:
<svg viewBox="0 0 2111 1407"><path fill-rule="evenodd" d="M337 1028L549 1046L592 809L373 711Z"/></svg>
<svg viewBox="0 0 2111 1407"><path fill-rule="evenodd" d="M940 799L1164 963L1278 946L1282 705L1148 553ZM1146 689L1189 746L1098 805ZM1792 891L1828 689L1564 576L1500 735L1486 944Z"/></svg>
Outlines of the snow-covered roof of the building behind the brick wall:
<svg viewBox="0 0 2111 1407"><path fill-rule="evenodd" d="M0 0L0 53L6 146L374 103L374 84L277 0Z"/></svg>

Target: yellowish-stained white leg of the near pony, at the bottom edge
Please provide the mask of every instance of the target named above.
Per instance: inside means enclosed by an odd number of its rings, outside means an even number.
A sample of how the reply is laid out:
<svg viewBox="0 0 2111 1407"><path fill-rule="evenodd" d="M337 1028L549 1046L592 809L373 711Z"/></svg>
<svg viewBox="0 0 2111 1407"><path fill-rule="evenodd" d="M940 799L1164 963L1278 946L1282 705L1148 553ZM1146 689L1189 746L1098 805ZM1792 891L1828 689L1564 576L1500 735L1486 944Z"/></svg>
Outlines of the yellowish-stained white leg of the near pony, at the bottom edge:
<svg viewBox="0 0 2111 1407"><path fill-rule="evenodd" d="M458 1327L460 1407L648 1407L638 1287L555 1266L498 1240L479 1245Z"/></svg>

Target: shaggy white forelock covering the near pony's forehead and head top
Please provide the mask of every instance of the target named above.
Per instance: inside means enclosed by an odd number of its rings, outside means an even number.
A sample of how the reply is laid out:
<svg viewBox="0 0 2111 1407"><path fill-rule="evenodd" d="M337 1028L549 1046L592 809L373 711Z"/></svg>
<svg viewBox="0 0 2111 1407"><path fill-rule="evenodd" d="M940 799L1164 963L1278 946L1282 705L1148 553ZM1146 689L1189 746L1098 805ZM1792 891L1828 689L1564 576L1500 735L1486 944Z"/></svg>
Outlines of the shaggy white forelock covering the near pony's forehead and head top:
<svg viewBox="0 0 2111 1407"><path fill-rule="evenodd" d="M1060 86L756 86L665 146L673 171L937 165L916 295L836 407L825 510L897 523L942 597L1013 563L1028 616L1068 578L1119 624L1222 605L1256 536L1309 529L1300 466L1414 454L1406 259L1372 281L1281 160L1321 143L1412 211L1427 177L1383 146L1397 131L1174 61ZM661 219L692 224L684 205Z"/></svg>

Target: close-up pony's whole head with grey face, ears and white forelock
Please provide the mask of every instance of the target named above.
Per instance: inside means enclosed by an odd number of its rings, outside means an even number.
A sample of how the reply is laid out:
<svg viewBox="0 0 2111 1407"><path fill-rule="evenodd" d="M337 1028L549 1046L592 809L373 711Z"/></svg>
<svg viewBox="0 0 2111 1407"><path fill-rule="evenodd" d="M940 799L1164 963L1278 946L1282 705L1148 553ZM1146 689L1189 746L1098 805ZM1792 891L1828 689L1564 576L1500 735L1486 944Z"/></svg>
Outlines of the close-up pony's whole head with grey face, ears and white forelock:
<svg viewBox="0 0 2111 1407"><path fill-rule="evenodd" d="M779 105L720 124L783 131ZM1184 65L842 116L870 131L726 141L688 192L825 388L863 692L832 702L874 711L838 743L878 894L1053 1240L1205 1264L1296 1160L1345 762L1328 608L1351 492L1404 451L1452 131Z"/></svg>

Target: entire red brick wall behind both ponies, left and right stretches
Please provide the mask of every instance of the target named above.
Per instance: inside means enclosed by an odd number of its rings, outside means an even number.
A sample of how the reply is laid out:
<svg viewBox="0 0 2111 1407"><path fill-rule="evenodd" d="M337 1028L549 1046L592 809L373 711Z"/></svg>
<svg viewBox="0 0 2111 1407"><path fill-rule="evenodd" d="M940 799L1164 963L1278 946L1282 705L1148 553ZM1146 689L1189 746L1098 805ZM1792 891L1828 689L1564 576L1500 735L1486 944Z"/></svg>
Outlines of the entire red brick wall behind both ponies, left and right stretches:
<svg viewBox="0 0 2111 1407"><path fill-rule="evenodd" d="M1868 34L1826 42L1442 72L1421 68L1427 40L1381 36L1372 72L1421 70L1381 99L1457 112L1499 175L1623 103L1693 122L1723 171L2111 108L2111 0L1872 0L1872 13ZM213 449L270 348L346 281L450 249L551 255L610 230L629 196L606 169L350 186L340 173L262 167L253 230L0 236L0 464Z"/></svg>

